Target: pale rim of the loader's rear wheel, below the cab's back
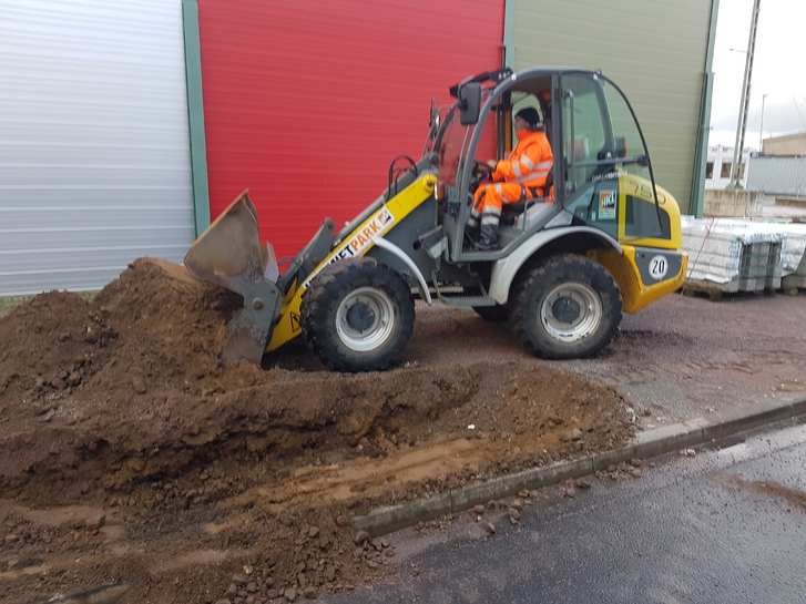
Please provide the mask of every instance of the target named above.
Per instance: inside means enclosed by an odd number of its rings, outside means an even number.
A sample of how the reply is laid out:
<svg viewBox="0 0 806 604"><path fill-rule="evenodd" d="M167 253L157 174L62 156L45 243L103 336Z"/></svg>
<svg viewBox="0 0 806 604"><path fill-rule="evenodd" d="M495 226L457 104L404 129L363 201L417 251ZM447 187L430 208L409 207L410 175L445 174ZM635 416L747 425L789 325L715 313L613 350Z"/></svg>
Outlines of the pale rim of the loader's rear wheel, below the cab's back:
<svg viewBox="0 0 806 604"><path fill-rule="evenodd" d="M589 285L567 283L549 291L540 320L555 340L574 342L590 336L602 321L602 300Z"/></svg>

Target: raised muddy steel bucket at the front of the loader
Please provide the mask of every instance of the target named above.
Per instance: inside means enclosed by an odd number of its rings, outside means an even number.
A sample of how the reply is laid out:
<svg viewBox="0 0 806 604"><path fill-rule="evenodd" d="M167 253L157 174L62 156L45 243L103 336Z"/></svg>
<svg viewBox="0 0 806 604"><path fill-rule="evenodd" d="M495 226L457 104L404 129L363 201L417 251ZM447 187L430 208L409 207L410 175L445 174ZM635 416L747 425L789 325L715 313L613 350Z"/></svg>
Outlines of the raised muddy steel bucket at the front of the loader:
<svg viewBox="0 0 806 604"><path fill-rule="evenodd" d="M272 325L279 313L277 259L271 244L261 246L257 212L244 191L193 243L185 255L187 272L241 294L244 308L228 326L225 360L261 362Z"/></svg>

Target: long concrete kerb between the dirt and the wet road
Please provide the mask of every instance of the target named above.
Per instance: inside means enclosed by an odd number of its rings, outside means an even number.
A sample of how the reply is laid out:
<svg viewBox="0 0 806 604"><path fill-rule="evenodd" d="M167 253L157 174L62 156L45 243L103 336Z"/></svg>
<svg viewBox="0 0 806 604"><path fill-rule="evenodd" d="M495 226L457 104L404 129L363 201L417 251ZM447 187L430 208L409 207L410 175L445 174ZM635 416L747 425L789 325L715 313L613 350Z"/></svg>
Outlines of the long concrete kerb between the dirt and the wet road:
<svg viewBox="0 0 806 604"><path fill-rule="evenodd" d="M513 495L522 490L540 489L569 478L580 478L598 470L629 461L649 459L677 449L702 444L737 432L752 430L776 421L806 413L806 397L796 395L763 401L742 409L715 413L712 418L697 418L640 432L626 447L605 451L573 461L533 468L516 474L468 484L426 499L380 508L367 515L354 516L350 524L356 531L379 536L412 526L418 522L469 510L496 499Z"/></svg>

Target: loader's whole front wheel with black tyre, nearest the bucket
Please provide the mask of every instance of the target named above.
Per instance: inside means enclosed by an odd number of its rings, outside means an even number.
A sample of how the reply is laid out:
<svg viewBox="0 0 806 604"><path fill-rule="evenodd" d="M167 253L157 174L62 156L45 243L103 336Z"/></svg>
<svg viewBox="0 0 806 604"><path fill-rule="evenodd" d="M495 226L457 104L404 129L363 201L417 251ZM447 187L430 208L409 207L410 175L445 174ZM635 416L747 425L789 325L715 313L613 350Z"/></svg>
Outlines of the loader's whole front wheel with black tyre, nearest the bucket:
<svg viewBox="0 0 806 604"><path fill-rule="evenodd" d="M415 301L404 278L373 258L336 262L303 296L303 335L313 352L337 371L386 369L406 348Z"/></svg>

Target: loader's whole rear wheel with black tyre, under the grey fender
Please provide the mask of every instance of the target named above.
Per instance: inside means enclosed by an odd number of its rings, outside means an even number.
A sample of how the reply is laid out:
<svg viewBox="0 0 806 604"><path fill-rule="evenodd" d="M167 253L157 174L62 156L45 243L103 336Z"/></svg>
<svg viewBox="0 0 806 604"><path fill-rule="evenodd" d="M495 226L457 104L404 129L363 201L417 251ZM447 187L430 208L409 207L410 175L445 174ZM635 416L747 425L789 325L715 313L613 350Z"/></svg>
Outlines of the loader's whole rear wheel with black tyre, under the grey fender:
<svg viewBox="0 0 806 604"><path fill-rule="evenodd" d="M591 357L610 344L621 323L619 286L583 256L549 258L513 294L512 331L529 352L545 359Z"/></svg>

